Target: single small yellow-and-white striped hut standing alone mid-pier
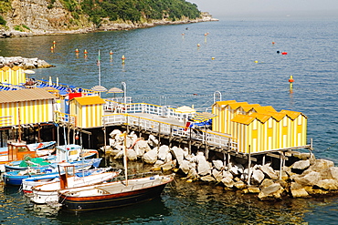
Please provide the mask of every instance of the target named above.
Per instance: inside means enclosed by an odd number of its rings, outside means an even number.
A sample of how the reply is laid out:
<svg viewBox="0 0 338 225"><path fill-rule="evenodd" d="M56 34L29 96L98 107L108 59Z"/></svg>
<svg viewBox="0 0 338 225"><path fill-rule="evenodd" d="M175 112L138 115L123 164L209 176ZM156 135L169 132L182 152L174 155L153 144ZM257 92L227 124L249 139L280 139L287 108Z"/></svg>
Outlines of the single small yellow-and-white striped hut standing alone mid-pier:
<svg viewBox="0 0 338 225"><path fill-rule="evenodd" d="M69 100L69 114L76 116L78 128L101 127L104 104L99 96L74 97Z"/></svg>

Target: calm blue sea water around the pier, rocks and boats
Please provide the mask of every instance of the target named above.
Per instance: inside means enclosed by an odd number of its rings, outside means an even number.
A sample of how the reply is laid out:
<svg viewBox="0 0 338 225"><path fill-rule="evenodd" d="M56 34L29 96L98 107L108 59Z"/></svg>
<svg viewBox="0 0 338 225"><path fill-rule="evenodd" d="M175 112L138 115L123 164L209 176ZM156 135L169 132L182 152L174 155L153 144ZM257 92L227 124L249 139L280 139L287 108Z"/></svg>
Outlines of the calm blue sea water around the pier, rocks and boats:
<svg viewBox="0 0 338 225"><path fill-rule="evenodd" d="M100 50L101 85L109 89L125 82L133 102L205 110L213 104L215 91L220 91L223 100L300 111L308 117L308 142L313 138L316 157L337 164L337 24L338 18L225 19L132 31L7 38L0 39L0 56L44 59L55 67L37 69L34 77L52 77L54 82L58 77L60 83L91 88L99 84ZM53 41L56 47L51 52ZM121 56L126 57L125 64ZM292 94L290 76L295 80ZM338 222L338 197L260 202L184 181L164 189L161 199L121 210L58 212L34 206L16 188L0 190L0 205L0 224Z"/></svg>

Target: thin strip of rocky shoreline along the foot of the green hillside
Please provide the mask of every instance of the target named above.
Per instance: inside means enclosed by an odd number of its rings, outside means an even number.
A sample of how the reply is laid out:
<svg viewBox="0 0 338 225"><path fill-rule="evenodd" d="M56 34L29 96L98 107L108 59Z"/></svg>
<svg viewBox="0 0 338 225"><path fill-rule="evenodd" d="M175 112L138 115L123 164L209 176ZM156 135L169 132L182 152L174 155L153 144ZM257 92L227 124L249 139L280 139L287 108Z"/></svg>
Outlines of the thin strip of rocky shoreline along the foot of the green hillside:
<svg viewBox="0 0 338 225"><path fill-rule="evenodd" d="M46 31L34 29L31 32L21 32L17 30L0 30L0 38L9 38L9 37L27 37L27 36L58 36L58 35L73 35L73 34L88 34L94 32L102 32L102 31L119 31L119 30L132 30L132 29L140 29L140 28L150 28L154 26L166 26L166 25L183 25L183 24L195 24L202 22L217 22L219 21L217 18L212 17L204 17L197 19L186 19L179 21L167 21L167 20L153 20L151 23L116 23L109 22L105 20L105 23L100 27L86 27L76 30L55 30L55 31Z"/></svg>

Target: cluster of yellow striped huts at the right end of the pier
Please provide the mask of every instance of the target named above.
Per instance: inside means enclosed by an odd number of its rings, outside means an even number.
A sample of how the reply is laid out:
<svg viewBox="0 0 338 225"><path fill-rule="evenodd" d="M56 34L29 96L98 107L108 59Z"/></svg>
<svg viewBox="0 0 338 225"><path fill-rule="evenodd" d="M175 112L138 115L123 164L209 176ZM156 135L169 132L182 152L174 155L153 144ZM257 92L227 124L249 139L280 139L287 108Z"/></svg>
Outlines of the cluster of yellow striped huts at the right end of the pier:
<svg viewBox="0 0 338 225"><path fill-rule="evenodd" d="M307 117L301 112L261 107L236 100L218 101L212 129L238 140L240 152L261 152L306 146Z"/></svg>

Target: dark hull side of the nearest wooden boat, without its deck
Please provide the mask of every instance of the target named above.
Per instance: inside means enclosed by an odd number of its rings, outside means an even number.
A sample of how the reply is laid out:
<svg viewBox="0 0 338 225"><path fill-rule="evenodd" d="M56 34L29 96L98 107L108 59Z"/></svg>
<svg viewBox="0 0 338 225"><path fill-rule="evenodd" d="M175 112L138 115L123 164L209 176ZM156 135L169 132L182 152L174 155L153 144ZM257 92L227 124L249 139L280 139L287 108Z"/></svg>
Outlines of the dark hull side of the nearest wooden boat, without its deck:
<svg viewBox="0 0 338 225"><path fill-rule="evenodd" d="M97 197L66 197L61 195L58 202L62 210L87 211L124 207L159 197L166 183L148 189L111 194Z"/></svg>

